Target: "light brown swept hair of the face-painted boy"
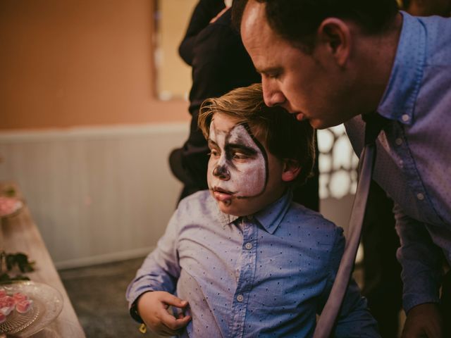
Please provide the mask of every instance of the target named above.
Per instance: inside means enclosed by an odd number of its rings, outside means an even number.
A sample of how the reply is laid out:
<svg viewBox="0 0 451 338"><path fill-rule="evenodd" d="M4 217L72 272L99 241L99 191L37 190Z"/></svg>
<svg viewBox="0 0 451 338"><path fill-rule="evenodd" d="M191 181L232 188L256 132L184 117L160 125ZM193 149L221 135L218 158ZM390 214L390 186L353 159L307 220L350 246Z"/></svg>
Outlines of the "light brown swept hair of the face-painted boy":
<svg viewBox="0 0 451 338"><path fill-rule="evenodd" d="M198 123L206 139L215 113L223 113L236 119L237 123L249 125L254 136L264 139L266 148L276 158L299 163L301 172L295 180L296 184L307 180L315 158L314 129L307 120L298 121L285 108L266 106L260 83L233 89L202 103Z"/></svg>

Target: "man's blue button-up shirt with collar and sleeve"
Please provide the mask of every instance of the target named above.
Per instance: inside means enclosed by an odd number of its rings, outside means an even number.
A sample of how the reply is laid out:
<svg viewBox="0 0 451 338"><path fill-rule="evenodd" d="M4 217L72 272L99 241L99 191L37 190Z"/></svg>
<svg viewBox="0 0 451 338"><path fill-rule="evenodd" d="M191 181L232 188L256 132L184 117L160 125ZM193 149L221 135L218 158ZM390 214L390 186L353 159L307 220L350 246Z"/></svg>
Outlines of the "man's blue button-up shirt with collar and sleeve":
<svg viewBox="0 0 451 338"><path fill-rule="evenodd" d="M373 178L395 201L404 310L438 302L442 256L451 263L451 19L401 12L400 42L378 113ZM345 123L360 154L360 117Z"/></svg>

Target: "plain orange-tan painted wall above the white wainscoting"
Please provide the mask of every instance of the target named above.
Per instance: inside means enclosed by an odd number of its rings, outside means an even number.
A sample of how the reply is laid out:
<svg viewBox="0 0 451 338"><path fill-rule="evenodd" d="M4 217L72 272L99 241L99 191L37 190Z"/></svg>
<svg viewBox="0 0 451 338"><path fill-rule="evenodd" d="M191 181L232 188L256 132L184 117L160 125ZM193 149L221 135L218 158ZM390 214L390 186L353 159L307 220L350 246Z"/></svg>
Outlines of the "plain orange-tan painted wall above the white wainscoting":
<svg viewBox="0 0 451 338"><path fill-rule="evenodd" d="M1 0L0 130L187 121L154 96L152 0Z"/></svg>

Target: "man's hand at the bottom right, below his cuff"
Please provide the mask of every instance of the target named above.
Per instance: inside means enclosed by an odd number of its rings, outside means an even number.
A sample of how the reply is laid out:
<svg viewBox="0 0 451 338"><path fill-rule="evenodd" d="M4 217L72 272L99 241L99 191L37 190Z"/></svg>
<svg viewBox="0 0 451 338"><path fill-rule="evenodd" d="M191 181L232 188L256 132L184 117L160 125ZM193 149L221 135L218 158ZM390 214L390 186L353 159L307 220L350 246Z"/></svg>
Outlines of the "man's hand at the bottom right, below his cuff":
<svg viewBox="0 0 451 338"><path fill-rule="evenodd" d="M407 313L402 338L441 338L442 316L438 305L435 303L424 303L414 306Z"/></svg>

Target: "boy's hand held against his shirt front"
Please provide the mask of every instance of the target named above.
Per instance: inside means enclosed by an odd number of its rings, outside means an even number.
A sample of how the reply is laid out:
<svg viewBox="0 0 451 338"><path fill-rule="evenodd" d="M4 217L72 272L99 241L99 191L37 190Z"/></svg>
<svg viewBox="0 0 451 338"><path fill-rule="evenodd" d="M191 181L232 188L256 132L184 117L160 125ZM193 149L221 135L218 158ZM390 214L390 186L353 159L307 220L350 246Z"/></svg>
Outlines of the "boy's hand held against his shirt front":
<svg viewBox="0 0 451 338"><path fill-rule="evenodd" d="M190 323L190 315L180 313L178 318L168 313L169 306L185 308L187 301L164 291L146 292L137 303L138 313L152 332L163 336L174 336Z"/></svg>

